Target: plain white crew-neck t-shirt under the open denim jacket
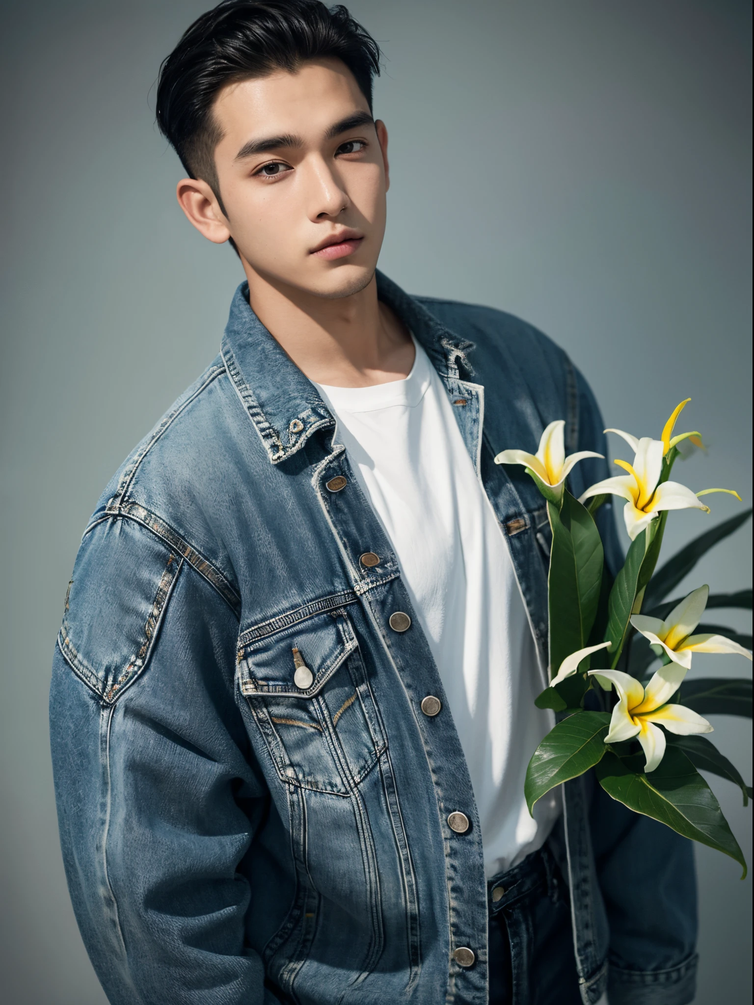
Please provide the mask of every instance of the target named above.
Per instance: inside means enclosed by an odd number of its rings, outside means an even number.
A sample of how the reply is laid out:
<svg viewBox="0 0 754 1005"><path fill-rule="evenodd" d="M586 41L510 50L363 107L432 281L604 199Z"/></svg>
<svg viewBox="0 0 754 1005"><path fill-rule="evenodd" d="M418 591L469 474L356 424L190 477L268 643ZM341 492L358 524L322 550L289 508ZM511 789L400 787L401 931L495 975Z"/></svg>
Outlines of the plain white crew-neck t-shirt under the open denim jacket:
<svg viewBox="0 0 754 1005"><path fill-rule="evenodd" d="M442 382L414 344L405 380L317 387L393 545L437 664L490 878L540 847L560 812L550 794L532 819L524 799L529 759L554 718L534 706L537 652L503 533Z"/></svg>

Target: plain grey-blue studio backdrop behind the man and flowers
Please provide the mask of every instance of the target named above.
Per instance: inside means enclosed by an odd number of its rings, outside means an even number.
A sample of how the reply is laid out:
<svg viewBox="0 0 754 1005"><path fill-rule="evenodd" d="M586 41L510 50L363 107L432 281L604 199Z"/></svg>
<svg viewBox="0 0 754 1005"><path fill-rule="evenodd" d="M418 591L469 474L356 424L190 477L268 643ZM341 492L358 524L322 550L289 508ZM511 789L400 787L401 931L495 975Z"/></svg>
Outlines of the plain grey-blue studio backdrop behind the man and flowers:
<svg viewBox="0 0 754 1005"><path fill-rule="evenodd" d="M57 845L46 702L80 534L121 460L213 357L240 269L180 213L160 60L206 0L2 4L2 926L8 1005L105 1001ZM356 0L383 44L393 187L381 266L540 326L609 425L684 428L694 488L751 499L750 5ZM500 447L511 444L500 444ZM618 443L612 444L617 451ZM620 454L623 455L624 449ZM673 517L666 554L740 505ZM689 586L751 583L751 532ZM727 615L723 615L728 618ZM733 620L746 624L743 613ZM740 657L696 672L746 674ZM751 728L715 741L751 779ZM713 780L751 862L751 808ZM751 880L698 848L699 1002L751 999ZM636 862L626 876L650 882Z"/></svg>

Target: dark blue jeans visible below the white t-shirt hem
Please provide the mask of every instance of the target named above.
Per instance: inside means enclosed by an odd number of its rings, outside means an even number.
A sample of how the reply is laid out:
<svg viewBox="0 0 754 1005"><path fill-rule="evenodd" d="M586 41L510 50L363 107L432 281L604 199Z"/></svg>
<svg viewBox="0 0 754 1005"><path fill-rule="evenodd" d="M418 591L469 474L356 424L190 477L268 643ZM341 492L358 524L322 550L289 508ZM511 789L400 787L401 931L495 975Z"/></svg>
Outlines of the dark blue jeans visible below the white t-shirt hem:
<svg viewBox="0 0 754 1005"><path fill-rule="evenodd" d="M490 1005L580 1005L568 887L547 845L489 880L488 898Z"/></svg>

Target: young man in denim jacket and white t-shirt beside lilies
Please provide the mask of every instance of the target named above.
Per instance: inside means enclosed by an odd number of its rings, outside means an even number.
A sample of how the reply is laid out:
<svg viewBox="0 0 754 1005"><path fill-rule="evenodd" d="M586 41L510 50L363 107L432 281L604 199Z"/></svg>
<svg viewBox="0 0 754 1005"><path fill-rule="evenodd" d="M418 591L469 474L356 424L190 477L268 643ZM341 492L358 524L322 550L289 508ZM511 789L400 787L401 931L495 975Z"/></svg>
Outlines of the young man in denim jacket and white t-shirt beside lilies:
<svg viewBox="0 0 754 1005"><path fill-rule="evenodd" d="M114 1005L571 1005L608 972L611 1005L682 1005L689 843L582 779L534 819L523 794L549 530L493 458L561 418L601 454L602 422L539 332L376 271L378 59L343 7L229 0L162 67L179 203L246 281L69 586L78 924Z"/></svg>

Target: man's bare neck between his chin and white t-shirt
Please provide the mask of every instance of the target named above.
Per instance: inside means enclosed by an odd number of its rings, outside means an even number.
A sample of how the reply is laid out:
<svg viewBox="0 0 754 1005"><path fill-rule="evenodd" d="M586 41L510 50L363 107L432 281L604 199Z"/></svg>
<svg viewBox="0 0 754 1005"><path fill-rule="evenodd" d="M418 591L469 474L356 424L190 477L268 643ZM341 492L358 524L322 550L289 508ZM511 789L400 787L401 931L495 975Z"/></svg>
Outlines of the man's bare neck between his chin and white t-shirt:
<svg viewBox="0 0 754 1005"><path fill-rule="evenodd" d="M369 387L406 377L414 347L406 327L377 299L373 275L363 289L325 297L272 282L243 262L249 304L310 380Z"/></svg>

